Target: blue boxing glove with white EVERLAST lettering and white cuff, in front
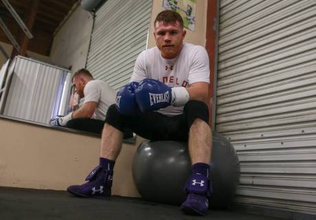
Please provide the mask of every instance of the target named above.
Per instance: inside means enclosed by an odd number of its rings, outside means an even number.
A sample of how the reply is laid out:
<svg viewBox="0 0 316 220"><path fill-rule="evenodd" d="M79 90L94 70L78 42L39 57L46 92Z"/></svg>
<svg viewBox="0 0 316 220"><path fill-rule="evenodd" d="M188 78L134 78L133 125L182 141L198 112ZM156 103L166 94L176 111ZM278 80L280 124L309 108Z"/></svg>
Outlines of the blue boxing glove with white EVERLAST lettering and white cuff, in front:
<svg viewBox="0 0 316 220"><path fill-rule="evenodd" d="M155 111L168 107L183 106L190 100L185 87L170 88L168 85L154 79L145 79L135 89L135 97L142 112Z"/></svg>

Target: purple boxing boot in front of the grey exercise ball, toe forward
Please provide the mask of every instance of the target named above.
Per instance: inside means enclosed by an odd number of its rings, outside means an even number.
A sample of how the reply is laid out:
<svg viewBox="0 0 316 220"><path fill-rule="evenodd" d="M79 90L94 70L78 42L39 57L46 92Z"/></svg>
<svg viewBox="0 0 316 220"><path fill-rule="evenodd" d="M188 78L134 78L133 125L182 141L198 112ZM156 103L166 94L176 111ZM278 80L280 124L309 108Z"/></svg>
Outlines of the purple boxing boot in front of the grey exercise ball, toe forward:
<svg viewBox="0 0 316 220"><path fill-rule="evenodd" d="M205 215L208 210L208 199L212 192L211 181L201 174L193 174L189 177L185 191L187 199L182 203L181 210L185 214Z"/></svg>

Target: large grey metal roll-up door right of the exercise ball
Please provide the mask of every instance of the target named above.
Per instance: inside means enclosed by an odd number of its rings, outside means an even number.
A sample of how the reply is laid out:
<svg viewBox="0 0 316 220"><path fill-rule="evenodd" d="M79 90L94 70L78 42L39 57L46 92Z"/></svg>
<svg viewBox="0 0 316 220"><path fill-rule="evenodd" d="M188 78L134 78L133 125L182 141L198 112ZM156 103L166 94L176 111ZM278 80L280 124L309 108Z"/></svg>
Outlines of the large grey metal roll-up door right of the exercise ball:
<svg viewBox="0 0 316 220"><path fill-rule="evenodd" d="M316 1L219 12L215 125L240 159L236 201L316 214Z"/></svg>

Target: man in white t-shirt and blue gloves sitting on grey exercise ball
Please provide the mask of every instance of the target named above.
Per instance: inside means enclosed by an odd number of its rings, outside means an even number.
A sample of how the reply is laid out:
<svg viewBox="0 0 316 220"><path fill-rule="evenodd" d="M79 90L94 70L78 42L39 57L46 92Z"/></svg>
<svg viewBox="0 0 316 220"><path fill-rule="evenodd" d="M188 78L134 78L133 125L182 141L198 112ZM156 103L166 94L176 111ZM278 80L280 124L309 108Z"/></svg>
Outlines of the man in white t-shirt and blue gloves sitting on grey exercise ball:
<svg viewBox="0 0 316 220"><path fill-rule="evenodd" d="M212 190L208 179L212 131L205 104L209 59L203 47L183 43L186 32L177 12L160 12L154 25L157 47L139 54L131 83L117 93L116 104L106 114L99 166L87 177L87 183L67 190L81 197L110 196L122 132L129 128L148 140L188 141L192 174L181 210L203 215Z"/></svg>

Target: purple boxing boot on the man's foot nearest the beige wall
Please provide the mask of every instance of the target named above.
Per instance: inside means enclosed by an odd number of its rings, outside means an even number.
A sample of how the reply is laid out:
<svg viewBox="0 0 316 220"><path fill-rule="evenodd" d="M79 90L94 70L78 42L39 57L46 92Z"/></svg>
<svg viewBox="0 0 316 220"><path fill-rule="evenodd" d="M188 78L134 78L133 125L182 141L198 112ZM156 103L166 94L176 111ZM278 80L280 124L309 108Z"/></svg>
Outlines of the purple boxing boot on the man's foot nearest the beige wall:
<svg viewBox="0 0 316 220"><path fill-rule="evenodd" d="M95 167L87 176L85 184L69 186L67 191L78 197L104 198L111 196L113 170Z"/></svg>

